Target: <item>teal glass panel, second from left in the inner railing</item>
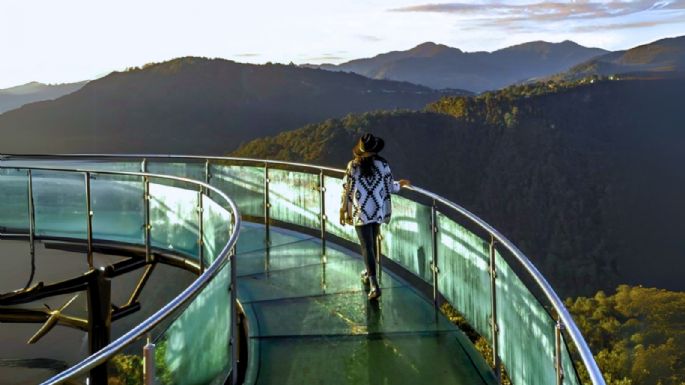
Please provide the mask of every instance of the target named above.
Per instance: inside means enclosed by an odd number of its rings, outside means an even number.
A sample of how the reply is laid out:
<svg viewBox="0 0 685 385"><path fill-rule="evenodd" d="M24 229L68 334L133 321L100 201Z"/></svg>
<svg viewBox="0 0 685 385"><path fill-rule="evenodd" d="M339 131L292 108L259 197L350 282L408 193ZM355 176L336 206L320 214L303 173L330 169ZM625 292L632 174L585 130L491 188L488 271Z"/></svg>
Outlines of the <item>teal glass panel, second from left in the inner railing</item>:
<svg viewBox="0 0 685 385"><path fill-rule="evenodd" d="M34 170L33 202L36 235L87 238L84 174Z"/></svg>

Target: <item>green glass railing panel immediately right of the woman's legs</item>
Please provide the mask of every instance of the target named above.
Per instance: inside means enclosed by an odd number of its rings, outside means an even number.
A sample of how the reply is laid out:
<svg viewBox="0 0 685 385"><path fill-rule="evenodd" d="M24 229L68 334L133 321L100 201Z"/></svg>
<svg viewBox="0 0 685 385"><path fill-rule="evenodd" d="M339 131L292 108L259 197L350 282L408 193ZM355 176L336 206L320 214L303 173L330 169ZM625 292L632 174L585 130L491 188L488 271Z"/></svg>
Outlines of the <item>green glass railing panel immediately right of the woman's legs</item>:
<svg viewBox="0 0 685 385"><path fill-rule="evenodd" d="M392 219L383 226L382 254L425 281L432 282L431 208L395 195Z"/></svg>

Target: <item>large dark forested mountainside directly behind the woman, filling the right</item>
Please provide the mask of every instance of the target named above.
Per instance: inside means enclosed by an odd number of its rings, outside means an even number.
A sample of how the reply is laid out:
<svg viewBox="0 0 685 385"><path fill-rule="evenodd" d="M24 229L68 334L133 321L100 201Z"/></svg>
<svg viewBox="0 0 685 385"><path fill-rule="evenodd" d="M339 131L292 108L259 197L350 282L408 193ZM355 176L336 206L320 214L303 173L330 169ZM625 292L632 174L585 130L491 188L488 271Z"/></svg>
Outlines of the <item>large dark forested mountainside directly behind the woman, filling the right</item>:
<svg viewBox="0 0 685 385"><path fill-rule="evenodd" d="M396 177L493 224L562 294L618 283L685 290L673 268L685 258L684 87L599 81L449 97L424 112L330 119L233 154L343 167L360 133L373 132Z"/></svg>

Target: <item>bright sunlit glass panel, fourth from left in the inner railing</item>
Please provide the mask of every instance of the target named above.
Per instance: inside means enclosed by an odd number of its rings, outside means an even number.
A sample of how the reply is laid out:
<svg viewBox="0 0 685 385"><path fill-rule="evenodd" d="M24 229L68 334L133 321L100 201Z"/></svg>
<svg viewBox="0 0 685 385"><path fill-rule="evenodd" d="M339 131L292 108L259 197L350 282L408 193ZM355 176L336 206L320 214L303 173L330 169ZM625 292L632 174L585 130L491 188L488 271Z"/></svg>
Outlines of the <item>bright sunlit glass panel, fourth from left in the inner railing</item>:
<svg viewBox="0 0 685 385"><path fill-rule="evenodd" d="M150 235L152 245L198 255L198 191L150 183Z"/></svg>

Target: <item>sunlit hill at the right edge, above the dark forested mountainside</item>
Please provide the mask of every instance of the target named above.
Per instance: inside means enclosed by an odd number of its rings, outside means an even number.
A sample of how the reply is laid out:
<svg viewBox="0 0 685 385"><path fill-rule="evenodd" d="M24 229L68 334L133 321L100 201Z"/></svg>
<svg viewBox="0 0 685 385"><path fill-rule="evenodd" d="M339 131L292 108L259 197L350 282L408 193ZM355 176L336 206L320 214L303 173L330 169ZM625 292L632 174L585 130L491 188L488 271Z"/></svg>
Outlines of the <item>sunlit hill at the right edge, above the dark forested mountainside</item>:
<svg viewBox="0 0 685 385"><path fill-rule="evenodd" d="M588 75L636 74L672 77L685 73L685 36L661 39L625 51L616 51L579 64L563 74L566 79Z"/></svg>

